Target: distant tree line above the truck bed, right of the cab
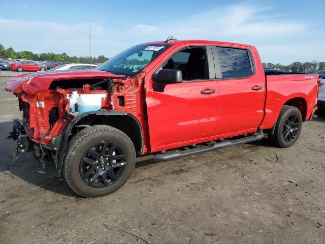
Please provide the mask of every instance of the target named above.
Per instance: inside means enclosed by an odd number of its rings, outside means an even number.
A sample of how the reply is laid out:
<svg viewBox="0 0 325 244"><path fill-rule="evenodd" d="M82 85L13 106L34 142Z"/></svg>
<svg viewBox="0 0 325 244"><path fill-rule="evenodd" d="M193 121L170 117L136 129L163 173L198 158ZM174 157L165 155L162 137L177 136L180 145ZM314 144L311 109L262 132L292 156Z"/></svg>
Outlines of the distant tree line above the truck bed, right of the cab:
<svg viewBox="0 0 325 244"><path fill-rule="evenodd" d="M279 69L287 70L295 73L315 73L320 70L325 70L325 62L294 62L290 65L263 63L264 69Z"/></svg>

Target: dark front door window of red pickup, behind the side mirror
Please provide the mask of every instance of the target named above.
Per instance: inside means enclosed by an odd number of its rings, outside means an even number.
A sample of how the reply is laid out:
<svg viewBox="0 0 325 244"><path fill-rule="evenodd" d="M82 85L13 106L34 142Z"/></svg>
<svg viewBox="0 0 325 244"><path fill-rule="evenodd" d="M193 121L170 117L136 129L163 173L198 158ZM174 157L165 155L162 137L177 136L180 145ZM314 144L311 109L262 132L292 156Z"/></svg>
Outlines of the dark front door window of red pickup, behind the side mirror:
<svg viewBox="0 0 325 244"><path fill-rule="evenodd" d="M183 80L202 80L208 78L205 49L188 48L174 54L163 69L181 70Z"/></svg>

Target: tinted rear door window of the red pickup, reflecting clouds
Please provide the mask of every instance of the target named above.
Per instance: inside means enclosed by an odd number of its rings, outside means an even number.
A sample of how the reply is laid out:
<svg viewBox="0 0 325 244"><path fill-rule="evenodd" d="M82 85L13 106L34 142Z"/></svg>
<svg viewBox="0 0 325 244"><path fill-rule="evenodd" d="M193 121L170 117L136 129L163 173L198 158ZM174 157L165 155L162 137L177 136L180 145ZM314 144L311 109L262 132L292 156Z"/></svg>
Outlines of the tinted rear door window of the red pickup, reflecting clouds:
<svg viewBox="0 0 325 244"><path fill-rule="evenodd" d="M253 71L246 49L217 47L222 78L244 78Z"/></svg>

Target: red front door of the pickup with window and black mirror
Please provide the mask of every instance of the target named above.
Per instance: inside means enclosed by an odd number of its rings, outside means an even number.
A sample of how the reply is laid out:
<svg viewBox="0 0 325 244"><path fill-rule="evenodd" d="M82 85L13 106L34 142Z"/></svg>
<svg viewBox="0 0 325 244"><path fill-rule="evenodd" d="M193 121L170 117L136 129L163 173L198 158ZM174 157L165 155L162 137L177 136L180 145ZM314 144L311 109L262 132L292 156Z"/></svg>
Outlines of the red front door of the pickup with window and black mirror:
<svg viewBox="0 0 325 244"><path fill-rule="evenodd" d="M183 81L153 84L146 97L151 151L207 141L216 130L218 83L210 46L174 52L159 67L182 71Z"/></svg>

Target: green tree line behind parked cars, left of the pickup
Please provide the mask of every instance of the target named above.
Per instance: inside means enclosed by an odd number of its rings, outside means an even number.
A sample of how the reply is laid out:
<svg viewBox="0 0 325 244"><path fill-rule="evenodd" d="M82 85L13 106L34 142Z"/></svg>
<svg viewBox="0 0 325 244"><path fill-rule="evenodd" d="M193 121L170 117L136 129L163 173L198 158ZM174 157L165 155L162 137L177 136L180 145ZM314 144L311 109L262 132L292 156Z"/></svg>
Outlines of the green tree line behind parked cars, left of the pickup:
<svg viewBox="0 0 325 244"><path fill-rule="evenodd" d="M108 57L104 55L99 55L98 57L86 57L86 56L69 56L67 53L63 52L53 53L53 52L43 52L40 54L33 53L30 51L19 51L16 52L12 47L5 48L0 44L0 57L2 58L13 58L13 59L26 59L34 61L53 61L53 62L69 62L69 63L81 63L81 64L96 64L104 63L108 60Z"/></svg>

